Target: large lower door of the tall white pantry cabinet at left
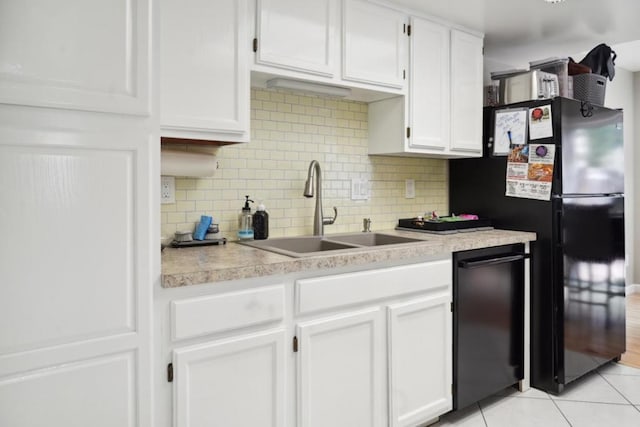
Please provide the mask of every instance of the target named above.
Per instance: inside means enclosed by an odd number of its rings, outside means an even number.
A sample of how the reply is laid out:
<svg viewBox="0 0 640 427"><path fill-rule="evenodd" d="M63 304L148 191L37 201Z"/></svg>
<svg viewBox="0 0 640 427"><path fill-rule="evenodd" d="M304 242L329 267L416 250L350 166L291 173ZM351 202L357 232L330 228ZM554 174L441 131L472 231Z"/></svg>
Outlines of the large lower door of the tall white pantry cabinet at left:
<svg viewBox="0 0 640 427"><path fill-rule="evenodd" d="M3 427L153 426L154 134L135 116L2 108Z"/></svg>

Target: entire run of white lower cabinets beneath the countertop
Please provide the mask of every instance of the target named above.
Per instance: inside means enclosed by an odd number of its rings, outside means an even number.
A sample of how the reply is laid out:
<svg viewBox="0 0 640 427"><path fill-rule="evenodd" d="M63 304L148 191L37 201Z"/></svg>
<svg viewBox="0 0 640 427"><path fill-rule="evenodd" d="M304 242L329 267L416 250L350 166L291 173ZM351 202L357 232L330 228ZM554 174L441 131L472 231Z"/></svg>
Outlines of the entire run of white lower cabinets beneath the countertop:
<svg viewBox="0 0 640 427"><path fill-rule="evenodd" d="M446 257L274 277L272 285L229 282L225 292L187 289L180 299L168 291L157 309L173 382L158 394L173 401L173 413L157 425L413 427L434 420L452 402L451 277Z"/></svg>

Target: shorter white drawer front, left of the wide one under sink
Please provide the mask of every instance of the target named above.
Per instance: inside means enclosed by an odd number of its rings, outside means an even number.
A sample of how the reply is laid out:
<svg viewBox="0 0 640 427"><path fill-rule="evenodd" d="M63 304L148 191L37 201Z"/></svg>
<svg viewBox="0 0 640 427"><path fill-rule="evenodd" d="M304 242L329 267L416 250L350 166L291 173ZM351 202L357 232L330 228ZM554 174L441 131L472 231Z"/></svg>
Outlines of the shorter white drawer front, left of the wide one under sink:
<svg viewBox="0 0 640 427"><path fill-rule="evenodd" d="M284 318L284 285L171 302L171 339L229 331Z"/></svg>

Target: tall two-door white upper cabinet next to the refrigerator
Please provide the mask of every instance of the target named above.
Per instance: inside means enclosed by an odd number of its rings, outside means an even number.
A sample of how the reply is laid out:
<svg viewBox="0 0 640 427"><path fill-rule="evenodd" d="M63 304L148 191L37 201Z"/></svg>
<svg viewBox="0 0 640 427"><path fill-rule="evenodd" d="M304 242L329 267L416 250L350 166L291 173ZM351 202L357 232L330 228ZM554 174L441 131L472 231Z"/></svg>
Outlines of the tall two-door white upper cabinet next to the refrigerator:
<svg viewBox="0 0 640 427"><path fill-rule="evenodd" d="M369 104L369 154L482 155L482 37L412 17L407 98Z"/></svg>

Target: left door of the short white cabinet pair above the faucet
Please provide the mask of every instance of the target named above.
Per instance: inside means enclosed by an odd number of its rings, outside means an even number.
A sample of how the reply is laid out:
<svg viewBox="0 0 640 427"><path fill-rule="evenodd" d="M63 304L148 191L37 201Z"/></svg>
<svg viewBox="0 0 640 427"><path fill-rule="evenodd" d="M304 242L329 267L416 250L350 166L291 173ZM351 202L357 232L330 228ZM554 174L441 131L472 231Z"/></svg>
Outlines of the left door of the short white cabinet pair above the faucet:
<svg viewBox="0 0 640 427"><path fill-rule="evenodd" d="M333 76L337 0L258 0L256 62Z"/></svg>

